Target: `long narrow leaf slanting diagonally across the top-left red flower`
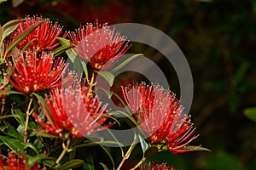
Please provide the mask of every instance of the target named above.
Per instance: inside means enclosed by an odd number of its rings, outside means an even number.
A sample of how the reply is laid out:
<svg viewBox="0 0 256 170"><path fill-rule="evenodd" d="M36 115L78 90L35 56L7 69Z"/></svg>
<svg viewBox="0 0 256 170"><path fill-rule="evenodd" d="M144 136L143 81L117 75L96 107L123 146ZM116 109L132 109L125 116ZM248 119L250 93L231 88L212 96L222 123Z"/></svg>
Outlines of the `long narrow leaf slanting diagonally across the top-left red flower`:
<svg viewBox="0 0 256 170"><path fill-rule="evenodd" d="M4 56L6 56L12 48L14 48L19 42L21 42L26 36L28 36L35 28L37 28L42 23L44 23L44 20L33 24L32 26L26 28L25 31L21 32L20 35L16 37L14 42L11 42L9 47L6 49Z"/></svg>

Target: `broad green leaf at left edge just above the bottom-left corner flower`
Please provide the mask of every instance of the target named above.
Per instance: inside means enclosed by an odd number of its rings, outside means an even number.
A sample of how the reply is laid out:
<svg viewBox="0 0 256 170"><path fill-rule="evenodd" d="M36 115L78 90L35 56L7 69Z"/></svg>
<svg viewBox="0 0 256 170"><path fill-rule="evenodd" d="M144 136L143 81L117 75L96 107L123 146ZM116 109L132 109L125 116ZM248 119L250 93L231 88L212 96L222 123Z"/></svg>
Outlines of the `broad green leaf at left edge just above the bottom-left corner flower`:
<svg viewBox="0 0 256 170"><path fill-rule="evenodd" d="M24 153L24 145L19 140L13 139L13 138L7 138L7 137L4 137L4 136L0 136L0 140L2 140L3 143L5 145L7 145L10 150L15 151L16 154L23 154Z"/></svg>

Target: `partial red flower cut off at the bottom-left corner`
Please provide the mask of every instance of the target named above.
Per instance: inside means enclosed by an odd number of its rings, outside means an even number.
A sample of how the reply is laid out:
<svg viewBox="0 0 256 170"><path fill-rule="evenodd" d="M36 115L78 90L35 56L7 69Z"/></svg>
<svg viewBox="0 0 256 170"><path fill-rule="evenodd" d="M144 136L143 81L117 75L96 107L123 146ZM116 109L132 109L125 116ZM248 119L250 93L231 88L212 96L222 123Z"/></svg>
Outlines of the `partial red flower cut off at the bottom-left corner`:
<svg viewBox="0 0 256 170"><path fill-rule="evenodd" d="M26 163L26 155L18 157L14 152L8 152L8 161L3 160L0 151L0 169L9 169L9 170L39 170L39 165L36 163L30 167Z"/></svg>

